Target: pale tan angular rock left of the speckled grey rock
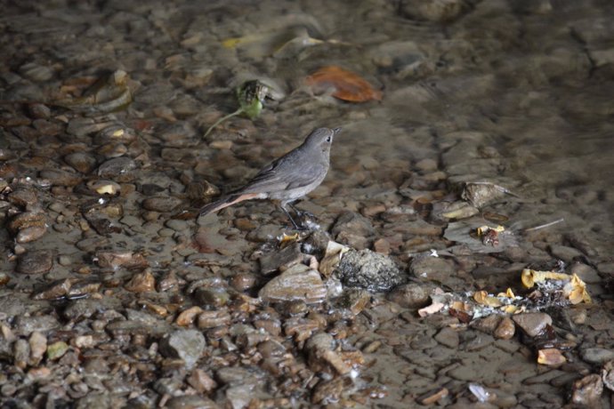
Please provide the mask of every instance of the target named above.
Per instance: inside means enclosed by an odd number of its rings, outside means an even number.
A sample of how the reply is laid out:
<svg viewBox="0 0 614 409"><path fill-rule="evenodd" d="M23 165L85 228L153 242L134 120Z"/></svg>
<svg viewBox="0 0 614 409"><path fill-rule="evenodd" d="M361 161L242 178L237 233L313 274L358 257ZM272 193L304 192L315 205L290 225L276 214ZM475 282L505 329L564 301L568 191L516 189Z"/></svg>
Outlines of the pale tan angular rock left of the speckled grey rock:
<svg viewBox="0 0 614 409"><path fill-rule="evenodd" d="M297 264L271 279L258 296L268 302L305 301L311 304L324 301L327 288L318 271Z"/></svg>

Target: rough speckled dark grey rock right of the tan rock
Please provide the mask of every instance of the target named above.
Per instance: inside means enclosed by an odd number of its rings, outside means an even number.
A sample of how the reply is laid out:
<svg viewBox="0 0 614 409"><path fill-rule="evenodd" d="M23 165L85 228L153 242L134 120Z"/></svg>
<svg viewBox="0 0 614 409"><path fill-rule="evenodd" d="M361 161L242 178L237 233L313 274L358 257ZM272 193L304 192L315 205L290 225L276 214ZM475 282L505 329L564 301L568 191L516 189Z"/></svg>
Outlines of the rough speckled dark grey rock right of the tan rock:
<svg viewBox="0 0 614 409"><path fill-rule="evenodd" d="M370 250L351 250L335 269L343 285L371 292L388 291L406 281L406 276L391 258Z"/></svg>

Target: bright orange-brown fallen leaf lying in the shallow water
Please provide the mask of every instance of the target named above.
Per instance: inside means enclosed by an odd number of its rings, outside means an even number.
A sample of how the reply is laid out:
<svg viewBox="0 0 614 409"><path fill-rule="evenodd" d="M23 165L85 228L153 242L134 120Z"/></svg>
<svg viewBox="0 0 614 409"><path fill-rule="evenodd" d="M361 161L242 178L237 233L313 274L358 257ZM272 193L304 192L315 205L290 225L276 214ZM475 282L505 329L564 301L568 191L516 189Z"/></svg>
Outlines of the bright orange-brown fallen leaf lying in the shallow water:
<svg viewBox="0 0 614 409"><path fill-rule="evenodd" d="M319 68L305 80L315 93L334 88L333 96L339 100L364 102L382 100L382 92L374 89L364 78L336 66Z"/></svg>

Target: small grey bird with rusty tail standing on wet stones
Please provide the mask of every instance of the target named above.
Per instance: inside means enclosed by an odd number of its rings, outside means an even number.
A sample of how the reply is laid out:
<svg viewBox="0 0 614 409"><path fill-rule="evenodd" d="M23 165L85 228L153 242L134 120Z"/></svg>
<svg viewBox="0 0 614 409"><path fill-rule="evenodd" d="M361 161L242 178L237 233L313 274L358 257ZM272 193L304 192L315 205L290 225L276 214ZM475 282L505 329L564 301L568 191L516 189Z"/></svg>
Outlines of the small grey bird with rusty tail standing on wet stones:
<svg viewBox="0 0 614 409"><path fill-rule="evenodd" d="M279 157L255 175L243 188L230 192L200 209L200 215L217 212L224 207L250 199L271 199L279 202L295 229L301 229L287 210L290 206L300 218L292 203L317 188L324 180L330 163L330 147L341 128L318 128L311 132L303 144Z"/></svg>

